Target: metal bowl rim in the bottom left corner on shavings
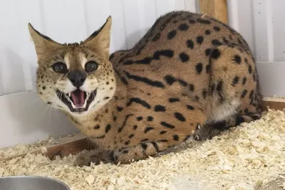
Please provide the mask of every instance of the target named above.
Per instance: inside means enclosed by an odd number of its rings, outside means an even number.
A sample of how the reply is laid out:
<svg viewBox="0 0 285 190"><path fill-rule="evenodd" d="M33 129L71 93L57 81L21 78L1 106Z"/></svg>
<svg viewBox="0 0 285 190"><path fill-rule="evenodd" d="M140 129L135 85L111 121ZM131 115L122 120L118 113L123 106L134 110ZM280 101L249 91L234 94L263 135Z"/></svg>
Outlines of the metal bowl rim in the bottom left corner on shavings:
<svg viewBox="0 0 285 190"><path fill-rule="evenodd" d="M43 176L0 177L1 190L71 190L61 181Z"/></svg>

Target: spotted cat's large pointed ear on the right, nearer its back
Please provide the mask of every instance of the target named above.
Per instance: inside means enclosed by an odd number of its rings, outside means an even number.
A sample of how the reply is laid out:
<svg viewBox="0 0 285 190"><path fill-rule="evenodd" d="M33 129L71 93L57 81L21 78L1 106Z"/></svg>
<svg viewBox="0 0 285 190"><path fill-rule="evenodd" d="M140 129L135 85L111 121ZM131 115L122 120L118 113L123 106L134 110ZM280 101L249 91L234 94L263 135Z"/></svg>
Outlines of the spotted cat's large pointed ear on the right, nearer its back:
<svg viewBox="0 0 285 190"><path fill-rule="evenodd" d="M91 36L83 41L84 46L90 46L92 49L102 51L109 58L110 48L110 30L112 27L112 17L109 16L105 24L98 31L94 31Z"/></svg>

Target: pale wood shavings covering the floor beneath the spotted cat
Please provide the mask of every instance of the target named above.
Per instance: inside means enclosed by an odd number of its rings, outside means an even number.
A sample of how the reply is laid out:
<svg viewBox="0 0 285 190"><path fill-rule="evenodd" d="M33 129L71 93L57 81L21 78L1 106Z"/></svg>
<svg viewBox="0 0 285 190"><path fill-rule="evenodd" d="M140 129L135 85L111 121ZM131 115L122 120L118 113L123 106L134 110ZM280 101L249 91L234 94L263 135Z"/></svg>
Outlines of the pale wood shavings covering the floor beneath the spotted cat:
<svg viewBox="0 0 285 190"><path fill-rule="evenodd" d="M19 146L0 150L0 155L11 151L20 151ZM258 121L209 141L190 140L173 151L128 165L83 168L73 166L76 156L51 161L27 154L1 161L0 176L51 176L73 190L283 189L284 177L279 174L285 171L285 111L269 110Z"/></svg>

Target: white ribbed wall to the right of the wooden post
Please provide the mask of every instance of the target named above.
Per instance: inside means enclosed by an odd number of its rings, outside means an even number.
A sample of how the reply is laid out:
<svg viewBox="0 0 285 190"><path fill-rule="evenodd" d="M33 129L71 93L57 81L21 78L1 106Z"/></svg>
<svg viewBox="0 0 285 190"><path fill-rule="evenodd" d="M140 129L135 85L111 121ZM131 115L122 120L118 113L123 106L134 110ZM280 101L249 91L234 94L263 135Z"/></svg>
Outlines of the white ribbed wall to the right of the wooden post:
<svg viewBox="0 0 285 190"><path fill-rule="evenodd" d="M249 42L264 96L285 96L285 1L228 0L229 24Z"/></svg>

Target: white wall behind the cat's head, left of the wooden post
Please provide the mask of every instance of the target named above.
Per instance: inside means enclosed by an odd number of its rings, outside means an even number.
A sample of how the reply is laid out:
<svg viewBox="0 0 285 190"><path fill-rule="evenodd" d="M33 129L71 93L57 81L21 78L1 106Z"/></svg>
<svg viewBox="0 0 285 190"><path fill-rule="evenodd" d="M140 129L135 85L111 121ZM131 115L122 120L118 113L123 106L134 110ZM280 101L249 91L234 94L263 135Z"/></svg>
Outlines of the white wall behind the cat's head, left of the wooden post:
<svg viewBox="0 0 285 190"><path fill-rule="evenodd" d="M131 48L161 14L195 7L195 0L0 0L0 147L76 131L31 91L37 64L28 22L56 41L71 43L85 39L111 15L113 52Z"/></svg>

